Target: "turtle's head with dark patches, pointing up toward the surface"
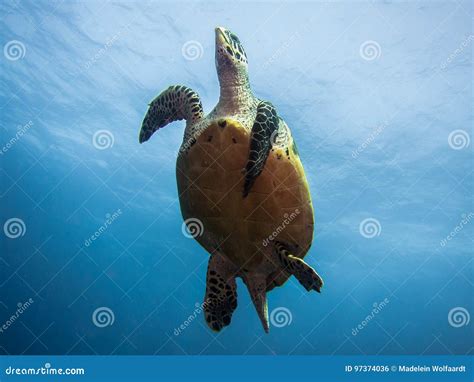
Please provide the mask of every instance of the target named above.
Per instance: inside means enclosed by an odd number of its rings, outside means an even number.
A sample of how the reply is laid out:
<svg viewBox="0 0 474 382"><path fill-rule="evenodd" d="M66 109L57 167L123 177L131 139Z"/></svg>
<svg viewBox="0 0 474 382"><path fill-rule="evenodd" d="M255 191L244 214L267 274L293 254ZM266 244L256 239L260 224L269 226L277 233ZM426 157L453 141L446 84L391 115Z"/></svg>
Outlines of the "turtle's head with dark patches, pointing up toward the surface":
<svg viewBox="0 0 474 382"><path fill-rule="evenodd" d="M247 81L247 55L239 38L230 30L216 28L216 68L219 80Z"/></svg>

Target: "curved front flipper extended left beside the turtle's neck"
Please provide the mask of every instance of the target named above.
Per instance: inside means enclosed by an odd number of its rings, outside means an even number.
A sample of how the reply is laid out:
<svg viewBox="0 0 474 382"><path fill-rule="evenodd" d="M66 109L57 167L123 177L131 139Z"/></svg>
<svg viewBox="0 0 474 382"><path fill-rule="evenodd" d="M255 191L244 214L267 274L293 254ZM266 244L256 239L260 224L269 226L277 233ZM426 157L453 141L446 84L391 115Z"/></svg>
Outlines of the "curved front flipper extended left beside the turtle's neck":
<svg viewBox="0 0 474 382"><path fill-rule="evenodd" d="M143 119L139 142L146 142L153 133L168 123L185 119L195 122L203 116L199 95L183 85L173 85L161 92L149 104Z"/></svg>

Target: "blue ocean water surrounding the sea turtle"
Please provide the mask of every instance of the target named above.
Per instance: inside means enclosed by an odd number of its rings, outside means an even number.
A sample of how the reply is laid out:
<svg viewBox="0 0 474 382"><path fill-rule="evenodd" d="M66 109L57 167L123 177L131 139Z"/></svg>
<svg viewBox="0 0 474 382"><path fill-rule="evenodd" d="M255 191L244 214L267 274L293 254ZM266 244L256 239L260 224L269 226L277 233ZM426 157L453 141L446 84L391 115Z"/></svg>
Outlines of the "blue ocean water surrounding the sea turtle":
<svg viewBox="0 0 474 382"><path fill-rule="evenodd" d="M473 354L471 2L0 9L0 353ZM168 85L214 107L217 25L313 196L323 293L272 291L270 334L240 281L232 324L206 327L208 255L175 181L184 124L138 143Z"/></svg>

